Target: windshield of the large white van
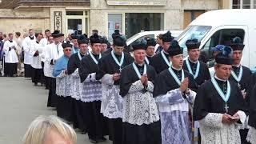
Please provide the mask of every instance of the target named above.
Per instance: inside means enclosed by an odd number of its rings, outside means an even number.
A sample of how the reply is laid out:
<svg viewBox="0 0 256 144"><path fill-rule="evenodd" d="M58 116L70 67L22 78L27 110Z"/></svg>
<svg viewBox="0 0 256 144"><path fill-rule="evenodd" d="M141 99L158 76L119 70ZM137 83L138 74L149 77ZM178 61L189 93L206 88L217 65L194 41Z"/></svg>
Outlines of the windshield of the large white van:
<svg viewBox="0 0 256 144"><path fill-rule="evenodd" d="M184 56L187 55L186 40L197 38L198 41L201 42L202 38L206 36L210 29L211 26L188 26L186 30L178 36L178 43L184 48Z"/></svg>

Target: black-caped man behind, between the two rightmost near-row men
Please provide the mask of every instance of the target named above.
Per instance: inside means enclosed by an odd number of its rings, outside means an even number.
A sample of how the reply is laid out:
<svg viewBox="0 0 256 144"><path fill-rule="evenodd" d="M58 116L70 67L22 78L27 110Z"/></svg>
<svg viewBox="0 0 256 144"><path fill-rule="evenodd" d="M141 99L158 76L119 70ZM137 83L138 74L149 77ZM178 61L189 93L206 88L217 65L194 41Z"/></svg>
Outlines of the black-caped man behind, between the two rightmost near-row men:
<svg viewBox="0 0 256 144"><path fill-rule="evenodd" d="M198 39L189 39L186 41L189 57L184 61L183 65L183 69L194 76L194 80L198 86L210 79L210 72L206 63L198 60L200 56L200 43Z"/></svg>

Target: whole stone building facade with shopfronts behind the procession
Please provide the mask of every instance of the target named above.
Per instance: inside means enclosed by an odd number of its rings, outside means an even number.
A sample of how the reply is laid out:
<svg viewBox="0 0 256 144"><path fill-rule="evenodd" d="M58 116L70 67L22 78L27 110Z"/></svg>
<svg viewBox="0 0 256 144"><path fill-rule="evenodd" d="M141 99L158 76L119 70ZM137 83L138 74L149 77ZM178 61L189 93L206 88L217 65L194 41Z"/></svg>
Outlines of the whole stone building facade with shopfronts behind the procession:
<svg viewBox="0 0 256 144"><path fill-rule="evenodd" d="M0 31L97 29L110 38L118 29L130 38L142 30L183 30L198 15L230 6L226 0L2 0Z"/></svg>

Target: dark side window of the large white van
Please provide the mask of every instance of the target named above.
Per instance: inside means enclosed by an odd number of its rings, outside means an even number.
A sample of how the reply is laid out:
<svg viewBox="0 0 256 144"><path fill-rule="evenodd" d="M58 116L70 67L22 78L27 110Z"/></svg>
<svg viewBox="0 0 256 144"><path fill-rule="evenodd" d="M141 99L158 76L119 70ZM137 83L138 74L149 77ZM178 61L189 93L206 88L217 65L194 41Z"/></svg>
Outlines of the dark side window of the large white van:
<svg viewBox="0 0 256 144"><path fill-rule="evenodd" d="M245 31L242 29L223 29L216 31L201 49L201 54L206 57L208 66L214 66L213 47L217 45L228 45L234 37L244 39Z"/></svg>

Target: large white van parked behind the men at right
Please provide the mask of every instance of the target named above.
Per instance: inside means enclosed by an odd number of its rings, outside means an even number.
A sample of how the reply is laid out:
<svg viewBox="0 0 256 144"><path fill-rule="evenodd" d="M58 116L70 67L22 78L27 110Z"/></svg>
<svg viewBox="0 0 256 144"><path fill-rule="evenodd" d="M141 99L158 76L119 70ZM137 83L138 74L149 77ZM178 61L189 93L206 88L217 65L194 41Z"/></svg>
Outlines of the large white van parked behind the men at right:
<svg viewBox="0 0 256 144"><path fill-rule="evenodd" d="M184 54L186 54L186 40L197 38L201 42L201 53L206 57L208 66L213 67L212 48L218 44L226 44L226 42L238 36L242 38L242 42L245 44L242 65L252 70L256 66L255 16L255 9L209 11L191 22L177 39L184 48Z"/></svg>

